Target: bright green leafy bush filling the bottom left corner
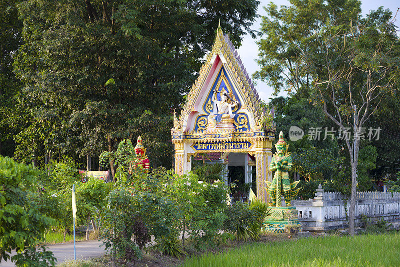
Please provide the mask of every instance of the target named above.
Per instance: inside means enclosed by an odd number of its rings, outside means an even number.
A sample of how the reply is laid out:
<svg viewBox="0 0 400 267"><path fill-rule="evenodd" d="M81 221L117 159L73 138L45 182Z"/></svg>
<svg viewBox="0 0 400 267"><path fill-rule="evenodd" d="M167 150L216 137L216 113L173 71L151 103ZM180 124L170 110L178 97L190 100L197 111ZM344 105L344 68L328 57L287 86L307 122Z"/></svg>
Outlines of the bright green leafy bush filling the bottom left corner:
<svg viewBox="0 0 400 267"><path fill-rule="evenodd" d="M35 248L55 223L38 211L23 190L34 189L36 175L31 165L0 156L0 261L8 259L11 250L15 250L17 254L11 260L18 265L55 264L51 252L41 253Z"/></svg>

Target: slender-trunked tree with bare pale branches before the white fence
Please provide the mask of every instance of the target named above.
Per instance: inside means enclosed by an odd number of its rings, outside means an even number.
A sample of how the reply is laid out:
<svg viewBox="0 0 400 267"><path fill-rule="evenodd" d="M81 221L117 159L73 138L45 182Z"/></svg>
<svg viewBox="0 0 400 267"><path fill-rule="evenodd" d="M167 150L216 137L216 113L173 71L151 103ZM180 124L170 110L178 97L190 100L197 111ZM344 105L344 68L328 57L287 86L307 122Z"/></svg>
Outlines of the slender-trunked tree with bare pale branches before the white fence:
<svg viewBox="0 0 400 267"><path fill-rule="evenodd" d="M303 56L308 68L314 68L310 72L314 79L314 104L342 132L345 127L353 129L353 138L345 138L351 164L349 233L353 235L361 131L381 99L394 93L400 43L391 13L382 8L365 19L350 20L349 28L327 25L321 36L324 62L313 55Z"/></svg>

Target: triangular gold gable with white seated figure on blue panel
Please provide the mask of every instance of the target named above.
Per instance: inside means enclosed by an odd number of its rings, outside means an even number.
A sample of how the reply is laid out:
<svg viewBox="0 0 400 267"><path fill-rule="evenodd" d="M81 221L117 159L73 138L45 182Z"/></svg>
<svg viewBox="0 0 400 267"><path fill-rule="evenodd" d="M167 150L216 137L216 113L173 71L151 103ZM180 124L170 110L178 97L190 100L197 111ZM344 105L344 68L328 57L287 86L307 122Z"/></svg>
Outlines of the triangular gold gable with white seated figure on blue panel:
<svg viewBox="0 0 400 267"><path fill-rule="evenodd" d="M236 49L217 29L215 43L193 84L172 139L190 134L232 134L274 130L269 110L260 100ZM230 136L230 135L229 135ZM192 136L193 137L193 136Z"/></svg>

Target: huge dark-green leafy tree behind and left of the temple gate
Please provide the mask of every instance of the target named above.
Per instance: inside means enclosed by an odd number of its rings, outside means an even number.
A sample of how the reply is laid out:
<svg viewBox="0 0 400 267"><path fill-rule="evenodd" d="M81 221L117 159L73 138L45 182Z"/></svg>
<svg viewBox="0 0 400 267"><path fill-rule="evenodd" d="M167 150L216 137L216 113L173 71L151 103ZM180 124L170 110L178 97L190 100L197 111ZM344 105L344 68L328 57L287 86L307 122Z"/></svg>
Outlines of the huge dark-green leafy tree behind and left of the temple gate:
<svg viewBox="0 0 400 267"><path fill-rule="evenodd" d="M53 123L62 140L49 145L62 151L98 155L140 134L160 163L172 149L171 111L184 101L218 18L239 46L244 33L256 34L249 27L258 4L23 2L24 45L14 66L35 103L31 116Z"/></svg>

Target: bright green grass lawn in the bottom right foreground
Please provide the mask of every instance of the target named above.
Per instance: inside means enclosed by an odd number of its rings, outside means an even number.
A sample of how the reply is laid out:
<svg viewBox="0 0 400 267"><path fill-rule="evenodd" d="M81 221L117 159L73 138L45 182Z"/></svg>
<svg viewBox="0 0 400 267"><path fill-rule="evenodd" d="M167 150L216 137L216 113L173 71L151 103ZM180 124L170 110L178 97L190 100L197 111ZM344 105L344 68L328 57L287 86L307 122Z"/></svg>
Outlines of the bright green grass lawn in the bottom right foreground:
<svg viewBox="0 0 400 267"><path fill-rule="evenodd" d="M255 243L195 256L183 266L400 266L400 233Z"/></svg>

